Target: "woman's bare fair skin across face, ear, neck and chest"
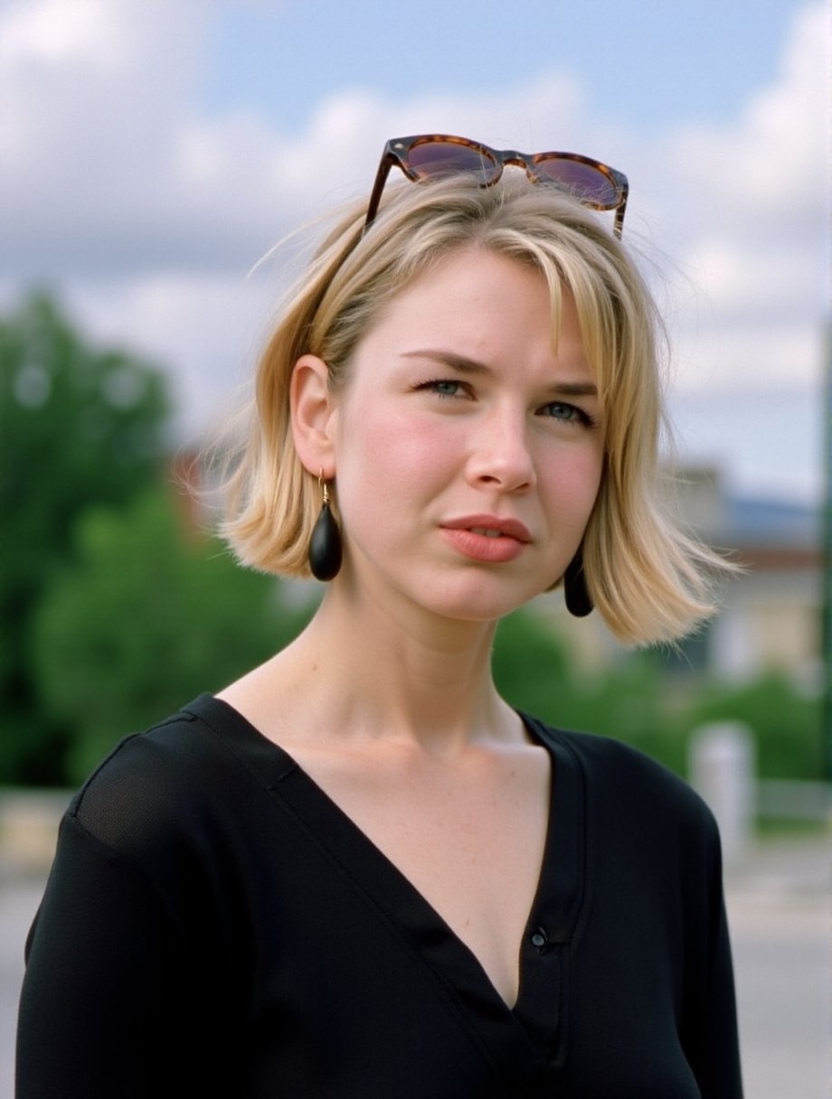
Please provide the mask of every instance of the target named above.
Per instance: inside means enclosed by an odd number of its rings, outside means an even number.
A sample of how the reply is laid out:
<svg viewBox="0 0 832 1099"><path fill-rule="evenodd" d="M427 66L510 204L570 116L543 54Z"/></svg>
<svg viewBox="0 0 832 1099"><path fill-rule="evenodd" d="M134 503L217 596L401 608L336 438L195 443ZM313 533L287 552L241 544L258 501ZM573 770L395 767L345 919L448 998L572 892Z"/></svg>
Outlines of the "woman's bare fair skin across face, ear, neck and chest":
<svg viewBox="0 0 832 1099"><path fill-rule="evenodd" d="M336 395L304 355L292 429L333 480L344 564L309 628L220 697L401 870L508 1004L540 877L545 750L490 674L497 620L557 580L592 510L603 410L568 297L450 255L399 293Z"/></svg>

